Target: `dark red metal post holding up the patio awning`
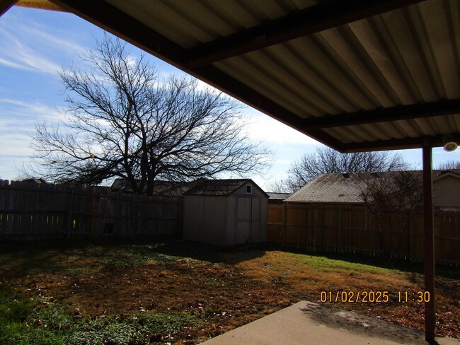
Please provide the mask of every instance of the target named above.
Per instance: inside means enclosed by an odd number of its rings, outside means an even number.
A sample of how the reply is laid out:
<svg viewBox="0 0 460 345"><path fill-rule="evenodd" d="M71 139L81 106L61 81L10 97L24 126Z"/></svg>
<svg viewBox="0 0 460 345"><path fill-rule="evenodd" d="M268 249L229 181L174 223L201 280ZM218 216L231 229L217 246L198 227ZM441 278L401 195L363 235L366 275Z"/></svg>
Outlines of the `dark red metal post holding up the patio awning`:
<svg viewBox="0 0 460 345"><path fill-rule="evenodd" d="M423 238L425 240L425 340L435 344L435 223L433 216L432 147L423 145ZM425 293L423 294L425 296Z"/></svg>

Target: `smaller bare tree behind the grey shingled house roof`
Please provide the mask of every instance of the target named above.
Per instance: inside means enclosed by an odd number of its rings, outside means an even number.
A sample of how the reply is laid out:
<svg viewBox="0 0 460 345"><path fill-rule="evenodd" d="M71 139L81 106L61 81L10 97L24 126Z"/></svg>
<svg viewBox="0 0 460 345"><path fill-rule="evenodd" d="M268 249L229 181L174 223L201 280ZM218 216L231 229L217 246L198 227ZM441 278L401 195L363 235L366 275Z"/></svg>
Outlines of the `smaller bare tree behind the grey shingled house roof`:
<svg viewBox="0 0 460 345"><path fill-rule="evenodd" d="M406 170L408 164L399 154L388 151L340 153L326 146L307 153L294 161L288 170L287 188L291 192L306 185L320 174L332 172L379 172Z"/></svg>

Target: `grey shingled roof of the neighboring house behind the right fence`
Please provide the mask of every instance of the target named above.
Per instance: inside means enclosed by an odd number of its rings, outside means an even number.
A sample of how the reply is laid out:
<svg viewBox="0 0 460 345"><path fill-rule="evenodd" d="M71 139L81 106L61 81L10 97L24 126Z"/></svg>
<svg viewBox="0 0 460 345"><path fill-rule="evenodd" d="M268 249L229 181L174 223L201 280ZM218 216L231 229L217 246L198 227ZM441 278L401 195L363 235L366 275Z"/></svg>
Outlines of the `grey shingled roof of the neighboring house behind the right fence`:
<svg viewBox="0 0 460 345"><path fill-rule="evenodd" d="M406 171L420 175L421 170ZM379 178L398 172L357 172L321 174L308 182L297 192L287 197L287 202L321 202L321 203L364 203L362 192L367 189L369 178ZM433 181L443 177L455 176L460 178L460 170L433 170Z"/></svg>

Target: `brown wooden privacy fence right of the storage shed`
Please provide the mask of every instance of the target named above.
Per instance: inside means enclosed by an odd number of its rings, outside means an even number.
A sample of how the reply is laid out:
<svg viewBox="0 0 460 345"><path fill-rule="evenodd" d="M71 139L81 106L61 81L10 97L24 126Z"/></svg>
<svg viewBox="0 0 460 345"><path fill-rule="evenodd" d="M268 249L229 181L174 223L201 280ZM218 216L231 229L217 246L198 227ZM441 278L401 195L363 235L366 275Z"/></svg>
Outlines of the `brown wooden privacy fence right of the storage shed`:
<svg viewBox="0 0 460 345"><path fill-rule="evenodd" d="M269 204L268 240L281 247L314 252L387 255L423 259L423 219L387 212L379 219L364 206ZM435 257L438 263L460 264L460 214L435 214Z"/></svg>

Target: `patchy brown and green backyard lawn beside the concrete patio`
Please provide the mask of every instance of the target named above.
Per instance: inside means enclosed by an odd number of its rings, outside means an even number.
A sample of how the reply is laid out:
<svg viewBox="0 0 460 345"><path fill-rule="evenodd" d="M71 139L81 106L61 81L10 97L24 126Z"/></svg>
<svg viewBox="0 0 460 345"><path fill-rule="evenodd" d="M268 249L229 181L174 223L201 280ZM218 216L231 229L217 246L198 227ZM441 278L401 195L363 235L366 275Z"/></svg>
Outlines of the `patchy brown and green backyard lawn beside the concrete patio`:
<svg viewBox="0 0 460 345"><path fill-rule="evenodd" d="M0 244L0 344L197 344L299 300L423 329L421 269L180 241ZM436 284L437 335L460 338L459 269Z"/></svg>

